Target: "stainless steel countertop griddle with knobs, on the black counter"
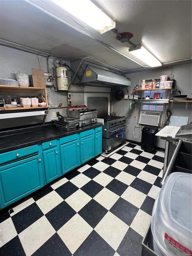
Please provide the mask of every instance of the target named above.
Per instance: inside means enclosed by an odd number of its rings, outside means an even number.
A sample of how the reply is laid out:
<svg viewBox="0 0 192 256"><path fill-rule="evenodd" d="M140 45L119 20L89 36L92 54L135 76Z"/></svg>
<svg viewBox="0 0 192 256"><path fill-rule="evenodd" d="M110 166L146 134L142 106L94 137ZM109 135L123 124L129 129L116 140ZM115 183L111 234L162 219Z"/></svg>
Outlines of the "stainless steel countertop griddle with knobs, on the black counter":
<svg viewBox="0 0 192 256"><path fill-rule="evenodd" d="M85 105L67 107L68 117L80 119L79 127L96 123L97 112L97 109L89 109Z"/></svg>

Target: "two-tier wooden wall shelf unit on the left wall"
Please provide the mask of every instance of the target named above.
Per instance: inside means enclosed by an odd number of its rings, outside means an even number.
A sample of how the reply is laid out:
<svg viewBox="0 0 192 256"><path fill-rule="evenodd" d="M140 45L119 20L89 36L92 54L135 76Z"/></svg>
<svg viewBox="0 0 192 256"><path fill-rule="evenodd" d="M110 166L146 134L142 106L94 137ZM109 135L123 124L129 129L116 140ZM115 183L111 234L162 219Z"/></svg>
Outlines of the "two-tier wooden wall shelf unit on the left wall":
<svg viewBox="0 0 192 256"><path fill-rule="evenodd" d="M44 95L42 94L44 91ZM49 105L47 100L47 92L46 87L25 87L25 86L9 86L9 85L0 85L0 93L39 93L41 100L46 103L45 107L12 107L0 108L0 119L6 118L16 118L16 117L24 117L24 116L39 116L44 115L43 123L45 123L46 115L49 113ZM33 111L34 110L34 111Z"/></svg>

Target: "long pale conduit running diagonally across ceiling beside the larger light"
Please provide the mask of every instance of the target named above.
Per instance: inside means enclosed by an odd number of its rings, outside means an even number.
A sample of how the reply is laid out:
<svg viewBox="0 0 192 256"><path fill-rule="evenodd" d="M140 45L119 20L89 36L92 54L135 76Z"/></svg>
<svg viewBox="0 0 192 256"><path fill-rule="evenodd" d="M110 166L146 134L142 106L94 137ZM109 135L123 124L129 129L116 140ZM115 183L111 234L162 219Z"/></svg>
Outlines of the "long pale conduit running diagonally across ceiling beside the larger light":
<svg viewBox="0 0 192 256"><path fill-rule="evenodd" d="M87 37L89 37L89 38L95 40L96 42L98 42L98 43L100 43L100 44L106 46L107 48L109 48L109 49L115 51L116 53L121 54L123 57L132 60L133 62L137 63L138 65L140 65L140 66L142 66L142 67L148 67L148 66L145 66L145 65L140 64L139 62L137 62L137 61L134 60L134 59L131 59L129 56L127 56L127 55L125 55L124 53L120 52L119 50L117 50L117 49L111 47L110 45L104 43L103 41L101 41L101 40L95 38L94 36L89 35L88 33L84 32L83 30L78 29L76 26L73 26L72 24L68 23L67 21L65 21L65 20L63 20L63 19L61 19L61 18L59 18L59 17L56 16L55 14L52 14L51 12L45 10L45 9L42 8L41 6L37 5L36 3L33 3L33 2L31 2L30 0L25 0L25 1L28 2L30 5L33 5L34 7L38 8L38 9L41 10L41 11L43 11L44 13L48 14L49 16L55 18L56 20L59 20L59 21L61 21L62 23L66 24L67 26L69 26L69 27L75 29L76 31L80 32L81 34L83 34L83 35L85 35L85 36L87 36Z"/></svg>

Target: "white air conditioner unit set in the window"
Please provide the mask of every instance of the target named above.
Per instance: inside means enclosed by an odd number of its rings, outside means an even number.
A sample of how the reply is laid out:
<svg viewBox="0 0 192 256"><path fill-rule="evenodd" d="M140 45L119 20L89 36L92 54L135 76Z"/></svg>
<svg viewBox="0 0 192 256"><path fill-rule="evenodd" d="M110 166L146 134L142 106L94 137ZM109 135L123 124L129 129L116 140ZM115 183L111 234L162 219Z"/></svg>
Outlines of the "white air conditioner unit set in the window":
<svg viewBox="0 0 192 256"><path fill-rule="evenodd" d="M158 126L161 113L141 111L139 124Z"/></svg>

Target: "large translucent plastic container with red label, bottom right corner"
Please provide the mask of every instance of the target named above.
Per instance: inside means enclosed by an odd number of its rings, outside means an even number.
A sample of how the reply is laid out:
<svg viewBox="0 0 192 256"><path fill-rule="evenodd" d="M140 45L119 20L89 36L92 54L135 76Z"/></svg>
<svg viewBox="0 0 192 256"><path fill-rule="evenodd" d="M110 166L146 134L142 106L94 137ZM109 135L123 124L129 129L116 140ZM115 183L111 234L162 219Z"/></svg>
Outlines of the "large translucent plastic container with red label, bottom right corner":
<svg viewBox="0 0 192 256"><path fill-rule="evenodd" d="M191 184L192 174L171 173L155 200L151 229L160 256L192 255Z"/></svg>

